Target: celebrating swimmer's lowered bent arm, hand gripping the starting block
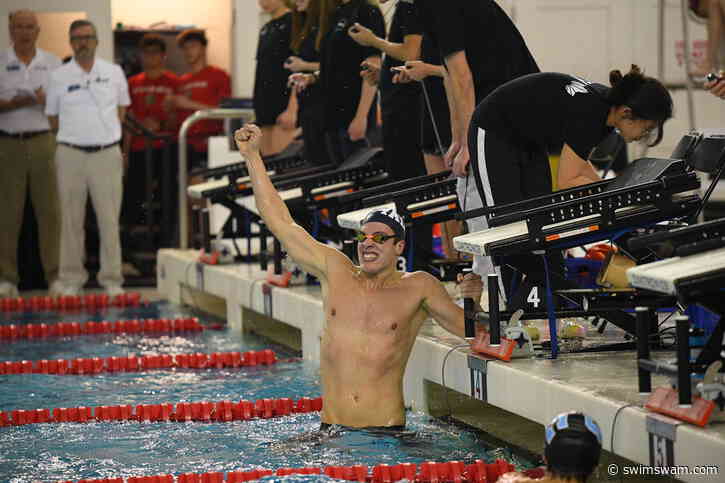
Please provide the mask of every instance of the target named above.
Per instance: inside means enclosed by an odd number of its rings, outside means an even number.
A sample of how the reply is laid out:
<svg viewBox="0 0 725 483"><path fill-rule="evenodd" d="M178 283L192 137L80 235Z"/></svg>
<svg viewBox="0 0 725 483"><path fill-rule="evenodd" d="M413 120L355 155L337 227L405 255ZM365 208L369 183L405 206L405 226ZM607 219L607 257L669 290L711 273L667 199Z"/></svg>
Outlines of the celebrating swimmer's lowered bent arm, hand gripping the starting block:
<svg viewBox="0 0 725 483"><path fill-rule="evenodd" d="M425 272L422 272L422 276L425 277L423 309L448 332L465 337L466 325L463 309L453 302L437 278ZM481 292L483 292L483 282L479 275L467 274L460 283L460 291L464 298L470 297L474 300L476 312L483 311L478 303L481 300Z"/></svg>

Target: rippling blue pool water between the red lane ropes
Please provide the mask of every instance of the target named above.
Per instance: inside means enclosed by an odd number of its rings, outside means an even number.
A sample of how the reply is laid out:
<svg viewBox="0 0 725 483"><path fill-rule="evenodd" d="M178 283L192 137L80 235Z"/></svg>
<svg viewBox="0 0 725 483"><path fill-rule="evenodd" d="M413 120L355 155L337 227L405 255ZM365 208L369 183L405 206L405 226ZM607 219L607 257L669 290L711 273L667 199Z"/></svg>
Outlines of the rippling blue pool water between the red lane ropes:
<svg viewBox="0 0 725 483"><path fill-rule="evenodd" d="M32 314L34 322L174 318L188 311L168 303L101 314ZM6 314L1 324L31 320ZM202 322L209 321L208 317ZM159 404L261 398L318 397L318 367L254 335L230 330L174 335L92 335L3 341L0 360L72 359L131 354L248 351L271 348L280 362L238 369L165 369L93 376L0 376L0 410L119 404ZM381 436L365 431L331 437L316 433L317 413L227 423L94 422L0 428L0 481L56 481L157 474L247 471L255 468L504 457L531 467L505 449L484 451L472 430L409 413L407 431ZM292 480L327 479L324 476Z"/></svg>

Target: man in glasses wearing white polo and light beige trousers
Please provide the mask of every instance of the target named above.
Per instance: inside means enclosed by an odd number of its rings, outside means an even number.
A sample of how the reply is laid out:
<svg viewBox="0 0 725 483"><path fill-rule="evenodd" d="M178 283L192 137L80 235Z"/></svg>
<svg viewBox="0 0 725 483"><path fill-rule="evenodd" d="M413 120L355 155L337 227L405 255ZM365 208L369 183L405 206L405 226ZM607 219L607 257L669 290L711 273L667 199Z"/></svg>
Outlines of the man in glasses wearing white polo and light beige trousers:
<svg viewBox="0 0 725 483"><path fill-rule="evenodd" d="M121 120L131 104L118 65L96 57L98 37L87 20L70 26L73 59L51 74L45 113L58 130L56 165L63 206L60 283L77 294L88 280L84 267L86 199L90 192L101 235L98 282L123 293L118 218L123 192Z"/></svg>

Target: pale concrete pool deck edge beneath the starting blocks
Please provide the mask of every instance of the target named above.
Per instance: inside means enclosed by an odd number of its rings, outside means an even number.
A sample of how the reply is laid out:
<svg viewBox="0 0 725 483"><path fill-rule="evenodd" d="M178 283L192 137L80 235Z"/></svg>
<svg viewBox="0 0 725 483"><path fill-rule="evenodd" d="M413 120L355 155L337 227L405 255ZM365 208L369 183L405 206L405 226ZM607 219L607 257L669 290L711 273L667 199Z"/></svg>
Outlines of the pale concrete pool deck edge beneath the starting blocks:
<svg viewBox="0 0 725 483"><path fill-rule="evenodd" d="M271 287L264 283L266 273L256 265L200 265L197 258L198 252L192 250L159 251L159 292L177 303L187 289L221 298L226 301L228 323L239 330L247 310L295 327L301 332L303 357L319 361L323 326L319 287ZM443 384L443 360L461 344L465 344L463 339L433 321L426 322L406 370L407 406L428 411L424 384L427 380L539 424L548 424L564 411L584 411L599 422L605 450L642 465L664 461L667 466L685 465L693 469L722 465L725 461L722 417L703 429L643 408L646 396L637 392L633 351L561 354L558 360L532 358L506 363L472 355L467 347L457 348L446 361ZM653 379L653 387L666 384L664 377ZM617 413L612 447L612 426ZM725 474L680 474L678 478L725 481Z"/></svg>

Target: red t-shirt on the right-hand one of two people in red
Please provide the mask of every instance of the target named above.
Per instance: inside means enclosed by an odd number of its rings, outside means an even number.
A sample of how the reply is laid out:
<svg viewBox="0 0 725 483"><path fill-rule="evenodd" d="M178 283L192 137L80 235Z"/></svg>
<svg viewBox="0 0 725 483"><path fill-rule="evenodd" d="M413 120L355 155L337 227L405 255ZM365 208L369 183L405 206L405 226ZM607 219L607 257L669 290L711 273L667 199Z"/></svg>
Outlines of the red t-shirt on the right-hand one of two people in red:
<svg viewBox="0 0 725 483"><path fill-rule="evenodd" d="M189 72L179 78L178 93L195 102L219 107L222 98L232 95L232 81L229 74L218 67L208 65L199 72ZM194 111L179 109L179 126ZM187 132L187 142L195 151L206 151L210 135L222 132L222 121L197 121Z"/></svg>

